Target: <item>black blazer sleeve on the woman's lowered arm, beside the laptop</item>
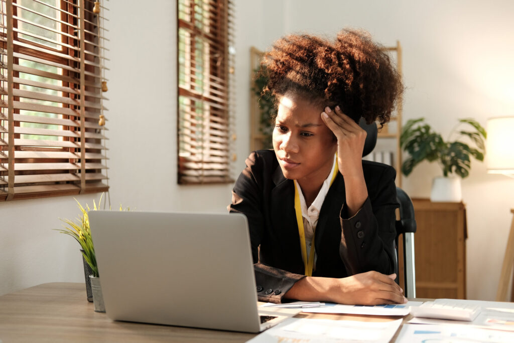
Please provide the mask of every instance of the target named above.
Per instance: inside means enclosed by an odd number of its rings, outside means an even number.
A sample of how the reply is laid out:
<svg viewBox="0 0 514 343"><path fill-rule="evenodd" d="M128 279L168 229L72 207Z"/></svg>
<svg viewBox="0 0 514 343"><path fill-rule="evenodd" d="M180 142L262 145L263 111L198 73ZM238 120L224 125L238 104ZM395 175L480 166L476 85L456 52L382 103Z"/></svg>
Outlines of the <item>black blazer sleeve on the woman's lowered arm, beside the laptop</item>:
<svg viewBox="0 0 514 343"><path fill-rule="evenodd" d="M273 155L274 158L274 155ZM243 213L248 220L256 291L259 301L280 303L287 291L304 275L265 265L259 261L259 245L264 232L263 202L264 188L271 182L271 176L263 176L269 166L252 152L246 159L246 168L237 178L232 190L230 212ZM269 170L271 174L272 169Z"/></svg>

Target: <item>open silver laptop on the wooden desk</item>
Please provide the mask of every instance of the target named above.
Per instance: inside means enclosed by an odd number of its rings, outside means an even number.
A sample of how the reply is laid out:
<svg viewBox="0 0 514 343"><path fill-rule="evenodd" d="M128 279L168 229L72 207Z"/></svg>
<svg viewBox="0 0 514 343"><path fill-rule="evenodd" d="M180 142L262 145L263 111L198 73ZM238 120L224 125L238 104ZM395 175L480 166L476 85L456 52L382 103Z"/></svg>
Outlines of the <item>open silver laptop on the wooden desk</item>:
<svg viewBox="0 0 514 343"><path fill-rule="evenodd" d="M90 211L107 316L260 332L299 312L258 308L242 214Z"/></svg>

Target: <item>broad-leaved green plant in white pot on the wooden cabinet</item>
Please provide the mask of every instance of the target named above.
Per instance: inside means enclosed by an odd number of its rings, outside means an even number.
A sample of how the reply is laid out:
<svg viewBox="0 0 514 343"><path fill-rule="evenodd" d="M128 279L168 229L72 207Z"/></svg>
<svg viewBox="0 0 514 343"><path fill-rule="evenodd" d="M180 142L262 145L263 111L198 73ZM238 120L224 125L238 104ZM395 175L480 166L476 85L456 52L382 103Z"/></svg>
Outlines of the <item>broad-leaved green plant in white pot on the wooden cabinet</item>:
<svg viewBox="0 0 514 343"><path fill-rule="evenodd" d="M409 157L403 162L401 171L407 176L421 161L437 161L443 176L434 178L430 200L460 202L461 178L469 175L471 156L484 160L487 133L476 120L459 119L445 141L424 121L425 118L411 119L402 129L400 146ZM462 125L468 130L461 129Z"/></svg>

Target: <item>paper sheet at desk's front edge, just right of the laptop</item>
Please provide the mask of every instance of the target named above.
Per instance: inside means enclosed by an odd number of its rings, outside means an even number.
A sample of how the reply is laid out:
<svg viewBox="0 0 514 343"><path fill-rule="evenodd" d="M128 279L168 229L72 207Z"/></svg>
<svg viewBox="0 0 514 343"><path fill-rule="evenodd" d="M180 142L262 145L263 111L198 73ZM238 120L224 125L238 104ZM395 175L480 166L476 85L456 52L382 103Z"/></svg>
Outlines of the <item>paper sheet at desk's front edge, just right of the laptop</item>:
<svg viewBox="0 0 514 343"><path fill-rule="evenodd" d="M276 327L250 339L251 343L340 343L389 342L398 330L401 319L391 321L355 321L289 318Z"/></svg>

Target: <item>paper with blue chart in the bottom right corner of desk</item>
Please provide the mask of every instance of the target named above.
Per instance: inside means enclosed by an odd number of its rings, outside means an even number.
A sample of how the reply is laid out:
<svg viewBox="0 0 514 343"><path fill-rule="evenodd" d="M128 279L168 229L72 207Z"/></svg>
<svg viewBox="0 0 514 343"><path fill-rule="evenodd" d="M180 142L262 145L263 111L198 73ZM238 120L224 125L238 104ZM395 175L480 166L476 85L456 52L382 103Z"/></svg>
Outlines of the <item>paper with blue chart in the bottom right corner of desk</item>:
<svg viewBox="0 0 514 343"><path fill-rule="evenodd" d="M451 320L448 320L451 321ZM403 324L397 342L505 342L514 341L514 333L465 325Z"/></svg>

